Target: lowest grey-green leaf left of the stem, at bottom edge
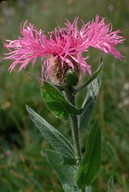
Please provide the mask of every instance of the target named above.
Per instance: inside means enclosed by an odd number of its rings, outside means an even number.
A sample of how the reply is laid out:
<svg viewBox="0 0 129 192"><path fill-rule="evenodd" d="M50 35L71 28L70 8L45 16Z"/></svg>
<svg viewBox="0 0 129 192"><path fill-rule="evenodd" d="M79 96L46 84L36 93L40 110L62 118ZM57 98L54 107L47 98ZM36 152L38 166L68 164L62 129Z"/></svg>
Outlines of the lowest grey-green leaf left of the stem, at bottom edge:
<svg viewBox="0 0 129 192"><path fill-rule="evenodd" d="M55 169L65 192L79 192L76 184L76 166L62 165L62 157L55 151L47 151L51 166Z"/></svg>

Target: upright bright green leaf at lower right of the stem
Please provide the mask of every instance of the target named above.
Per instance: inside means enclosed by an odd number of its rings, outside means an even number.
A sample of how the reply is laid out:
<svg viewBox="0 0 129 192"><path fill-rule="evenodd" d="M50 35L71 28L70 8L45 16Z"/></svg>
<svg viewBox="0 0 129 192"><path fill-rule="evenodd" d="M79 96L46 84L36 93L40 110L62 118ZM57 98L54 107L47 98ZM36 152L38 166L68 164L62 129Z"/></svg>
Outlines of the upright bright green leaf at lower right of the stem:
<svg viewBox="0 0 129 192"><path fill-rule="evenodd" d="M89 186L95 179L101 161L101 132L98 123L94 123L87 140L86 151L77 172L79 188Z"/></svg>

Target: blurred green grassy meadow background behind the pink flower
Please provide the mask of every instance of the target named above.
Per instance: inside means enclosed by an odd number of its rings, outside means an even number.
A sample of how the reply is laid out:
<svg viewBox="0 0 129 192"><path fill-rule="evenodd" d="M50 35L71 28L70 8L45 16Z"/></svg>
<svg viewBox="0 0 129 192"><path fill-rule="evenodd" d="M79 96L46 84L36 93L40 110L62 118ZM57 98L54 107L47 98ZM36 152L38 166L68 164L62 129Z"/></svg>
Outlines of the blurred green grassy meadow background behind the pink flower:
<svg viewBox="0 0 129 192"><path fill-rule="evenodd" d="M20 73L8 73L10 61L4 61L5 39L17 39L20 23L27 20L38 29L52 31L58 21L71 22L75 16L85 22L105 17L113 30L126 38L118 49L122 61L104 57L101 91L91 119L102 129L102 165L93 183L94 192L107 192L107 181L114 176L115 192L129 192L129 2L128 0L8 0L0 4L0 192L62 192L55 172L46 161L49 147L32 124L25 104L50 120L68 137L66 124L55 119L44 106L40 85L27 72L40 75L40 61ZM88 63L96 66L98 52L91 50ZM94 67L93 67L94 68ZM85 136L84 136L85 144Z"/></svg>

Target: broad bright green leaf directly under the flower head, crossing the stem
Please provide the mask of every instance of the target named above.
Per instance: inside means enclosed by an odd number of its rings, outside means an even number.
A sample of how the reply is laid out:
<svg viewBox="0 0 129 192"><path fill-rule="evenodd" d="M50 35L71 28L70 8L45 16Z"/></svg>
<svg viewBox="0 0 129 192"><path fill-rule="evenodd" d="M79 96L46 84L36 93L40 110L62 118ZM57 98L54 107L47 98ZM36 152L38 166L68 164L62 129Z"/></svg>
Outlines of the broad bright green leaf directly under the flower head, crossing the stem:
<svg viewBox="0 0 129 192"><path fill-rule="evenodd" d="M82 109L75 108L56 87L48 82L44 82L41 94L50 111L63 121L68 120L70 114L82 113Z"/></svg>

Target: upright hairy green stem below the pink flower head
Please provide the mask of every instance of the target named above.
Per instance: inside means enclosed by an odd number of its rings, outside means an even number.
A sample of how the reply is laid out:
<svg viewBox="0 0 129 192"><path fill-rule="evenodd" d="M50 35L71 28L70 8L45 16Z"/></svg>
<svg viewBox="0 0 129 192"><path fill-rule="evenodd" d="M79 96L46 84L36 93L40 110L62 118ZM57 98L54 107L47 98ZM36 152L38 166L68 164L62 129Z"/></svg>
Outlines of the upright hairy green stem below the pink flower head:
<svg viewBox="0 0 129 192"><path fill-rule="evenodd" d="M66 98L68 99L68 101L72 105L75 106L76 105L75 104L75 95L73 94L72 87L67 87L65 89L65 95L66 95ZM76 163L79 164L79 162L81 160L81 149L80 149L79 125L78 125L77 115L71 114L69 116L69 125L70 125L71 131L72 131Z"/></svg>

